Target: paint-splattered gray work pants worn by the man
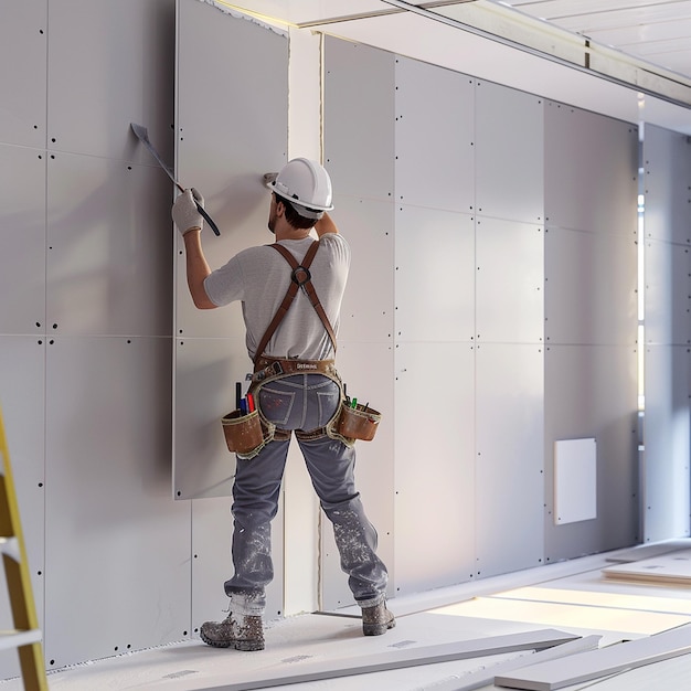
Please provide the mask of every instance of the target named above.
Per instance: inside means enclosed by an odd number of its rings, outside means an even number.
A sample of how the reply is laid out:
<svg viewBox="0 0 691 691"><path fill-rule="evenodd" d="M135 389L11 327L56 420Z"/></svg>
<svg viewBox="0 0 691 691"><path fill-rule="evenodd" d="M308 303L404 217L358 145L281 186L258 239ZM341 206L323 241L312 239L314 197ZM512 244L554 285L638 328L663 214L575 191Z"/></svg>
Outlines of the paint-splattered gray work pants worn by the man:
<svg viewBox="0 0 691 691"><path fill-rule="evenodd" d="M280 429L311 432L323 427L340 404L339 385L322 374L293 374L265 384L259 392L262 414ZM355 490L355 449L330 437L298 439L321 508L333 524L341 568L357 603L382 602L387 573L376 556L376 531ZM231 609L263 615L265 586L274 577L270 521L278 510L280 483L289 442L272 442L254 458L237 459L233 486L233 565L225 582Z"/></svg>

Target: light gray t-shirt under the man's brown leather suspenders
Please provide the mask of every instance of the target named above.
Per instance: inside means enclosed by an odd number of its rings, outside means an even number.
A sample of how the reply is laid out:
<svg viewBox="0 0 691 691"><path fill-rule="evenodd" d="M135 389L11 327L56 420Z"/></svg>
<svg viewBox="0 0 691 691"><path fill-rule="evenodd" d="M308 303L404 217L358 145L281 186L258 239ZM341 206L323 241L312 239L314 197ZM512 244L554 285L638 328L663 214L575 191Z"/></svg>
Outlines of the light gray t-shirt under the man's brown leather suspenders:
<svg viewBox="0 0 691 691"><path fill-rule="evenodd" d="M312 237L306 237L281 240L280 244L301 262L312 242ZM334 333L338 333L349 267L350 247L346 240L337 233L325 233L309 272ZM247 352L252 360L286 296L291 273L290 265L274 247L263 245L240 252L204 281L206 295L214 305L242 301ZM298 290L264 354L301 360L333 358L331 339L304 290Z"/></svg>

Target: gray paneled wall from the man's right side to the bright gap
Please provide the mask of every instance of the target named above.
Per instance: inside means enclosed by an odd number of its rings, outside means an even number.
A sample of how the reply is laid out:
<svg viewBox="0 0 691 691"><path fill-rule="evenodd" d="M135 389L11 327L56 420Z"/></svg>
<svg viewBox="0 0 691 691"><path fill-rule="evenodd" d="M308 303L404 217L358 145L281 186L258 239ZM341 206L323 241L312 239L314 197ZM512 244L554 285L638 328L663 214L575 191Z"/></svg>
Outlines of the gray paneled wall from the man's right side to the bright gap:
<svg viewBox="0 0 691 691"><path fill-rule="evenodd" d="M634 544L637 127L337 39L325 61L334 214L381 257L341 338L385 363L385 402L393 366L393 439L359 469L394 497L395 592ZM555 525L574 438L597 442L597 515Z"/></svg>

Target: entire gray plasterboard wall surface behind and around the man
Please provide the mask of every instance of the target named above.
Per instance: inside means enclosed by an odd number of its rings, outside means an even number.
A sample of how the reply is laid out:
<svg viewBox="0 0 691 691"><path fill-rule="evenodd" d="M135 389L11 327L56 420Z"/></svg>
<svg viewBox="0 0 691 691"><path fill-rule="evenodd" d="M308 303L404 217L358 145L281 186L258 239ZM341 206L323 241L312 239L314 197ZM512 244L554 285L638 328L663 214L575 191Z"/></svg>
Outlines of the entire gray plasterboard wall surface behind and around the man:
<svg viewBox="0 0 691 691"><path fill-rule="evenodd" d="M225 604L233 469L217 415L247 371L244 334L234 308L191 309L172 185L129 124L206 196L214 263L256 242L256 177L286 156L288 42L180 7L179 45L174 0L0 9L0 64L21 56L0 71L0 404L49 669L193 637ZM190 28L209 39L199 55ZM329 39L325 59L325 162L353 249L339 369L384 416L358 480L391 594L640 540L635 128L363 45ZM652 132L647 150L661 179L649 209L678 219L648 226L647 371L666 372L648 381L648 454L665 453L677 414L682 425L656 511L666 483L688 491L677 143ZM679 167L687 182L665 183ZM656 320L673 336L656 337ZM553 445L581 437L597 440L597 518L555 525ZM688 534L687 497L685 522L650 523L647 539ZM299 559L283 520L269 617L284 554ZM323 605L351 604L329 525L321 539ZM0 679L15 657L0 652Z"/></svg>

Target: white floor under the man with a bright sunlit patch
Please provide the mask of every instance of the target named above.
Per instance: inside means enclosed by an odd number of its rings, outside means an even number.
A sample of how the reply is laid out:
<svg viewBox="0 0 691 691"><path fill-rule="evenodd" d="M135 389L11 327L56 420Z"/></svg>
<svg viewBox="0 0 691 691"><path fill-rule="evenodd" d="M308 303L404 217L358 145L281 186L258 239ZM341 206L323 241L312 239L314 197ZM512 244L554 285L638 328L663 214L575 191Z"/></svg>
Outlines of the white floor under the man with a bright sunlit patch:
<svg viewBox="0 0 691 691"><path fill-rule="evenodd" d="M300 615L269 623L266 650L238 652L199 640L132 652L55 670L53 691L151 689L161 691L273 688L305 691L451 691L467 689L468 674L531 652L424 663L359 673L358 666L390 660L392 653L491 636L557 629L575 636L599 635L599 647L632 640L691 623L691 586L628 583L606 577L616 562L689 549L691 540L648 545L488 578L415 597L390 600L397 626L384 636L363 637L355 608ZM338 671L351 668L351 671ZM286 683L291 674L327 670L346 674ZM487 672L491 673L491 672ZM264 681L257 681L263 679ZM566 691L665 691L689 688L691 655L566 687ZM276 681L280 680L280 681ZM280 684L280 685L277 685ZM0 682L19 691L21 680ZM493 683L480 688L498 689Z"/></svg>

